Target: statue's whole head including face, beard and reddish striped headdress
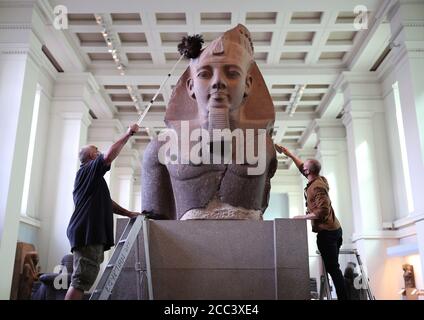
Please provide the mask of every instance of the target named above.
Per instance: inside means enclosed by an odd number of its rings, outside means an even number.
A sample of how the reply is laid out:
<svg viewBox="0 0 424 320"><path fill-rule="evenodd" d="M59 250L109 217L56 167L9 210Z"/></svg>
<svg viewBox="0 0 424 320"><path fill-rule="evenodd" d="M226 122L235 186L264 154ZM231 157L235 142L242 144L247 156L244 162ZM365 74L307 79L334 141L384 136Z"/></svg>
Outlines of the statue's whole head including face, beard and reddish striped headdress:
<svg viewBox="0 0 424 320"><path fill-rule="evenodd" d="M165 122L189 120L205 129L267 128L275 118L268 89L253 58L243 25L202 50L179 79Z"/></svg>

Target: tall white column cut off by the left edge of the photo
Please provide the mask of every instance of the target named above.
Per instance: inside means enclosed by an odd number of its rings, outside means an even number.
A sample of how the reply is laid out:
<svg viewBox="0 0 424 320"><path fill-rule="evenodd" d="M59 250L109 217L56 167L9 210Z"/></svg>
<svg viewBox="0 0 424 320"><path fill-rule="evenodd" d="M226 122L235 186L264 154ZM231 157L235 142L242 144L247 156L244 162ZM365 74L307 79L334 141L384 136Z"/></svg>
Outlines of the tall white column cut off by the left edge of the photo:
<svg viewBox="0 0 424 320"><path fill-rule="evenodd" d="M42 22L36 1L17 8L10 2L0 15L0 299L9 299L25 167L29 146Z"/></svg>

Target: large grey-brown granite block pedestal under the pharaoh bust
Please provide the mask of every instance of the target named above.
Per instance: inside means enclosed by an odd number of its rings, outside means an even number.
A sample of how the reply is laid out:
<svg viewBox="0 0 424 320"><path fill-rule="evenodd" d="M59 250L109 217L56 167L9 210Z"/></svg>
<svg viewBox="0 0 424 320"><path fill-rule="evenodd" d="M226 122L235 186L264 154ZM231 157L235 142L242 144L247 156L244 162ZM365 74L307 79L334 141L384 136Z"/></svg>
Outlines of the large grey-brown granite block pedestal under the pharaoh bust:
<svg viewBox="0 0 424 320"><path fill-rule="evenodd" d="M118 219L116 239L127 221ZM310 299L303 220L147 223L154 299ZM148 299L143 236L111 299Z"/></svg>

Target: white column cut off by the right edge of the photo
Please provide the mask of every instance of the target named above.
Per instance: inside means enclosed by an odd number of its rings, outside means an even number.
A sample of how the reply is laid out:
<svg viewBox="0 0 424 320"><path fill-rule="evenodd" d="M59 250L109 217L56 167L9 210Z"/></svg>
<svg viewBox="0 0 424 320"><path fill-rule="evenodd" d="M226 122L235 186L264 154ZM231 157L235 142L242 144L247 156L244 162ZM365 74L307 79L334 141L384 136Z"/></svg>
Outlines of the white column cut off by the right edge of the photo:
<svg viewBox="0 0 424 320"><path fill-rule="evenodd" d="M424 214L424 3L400 2L390 16L413 208ZM393 81L392 80L392 81ZM394 111L394 110L393 110Z"/></svg>

